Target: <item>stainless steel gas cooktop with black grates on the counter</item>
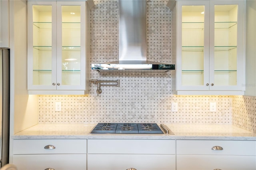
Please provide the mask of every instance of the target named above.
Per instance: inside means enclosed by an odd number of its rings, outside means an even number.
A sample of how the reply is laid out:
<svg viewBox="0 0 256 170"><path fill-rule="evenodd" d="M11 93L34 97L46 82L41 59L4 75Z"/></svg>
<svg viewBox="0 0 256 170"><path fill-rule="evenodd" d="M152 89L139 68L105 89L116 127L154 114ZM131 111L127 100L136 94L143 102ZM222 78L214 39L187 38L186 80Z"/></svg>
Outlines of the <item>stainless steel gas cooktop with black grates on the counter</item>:
<svg viewBox="0 0 256 170"><path fill-rule="evenodd" d="M156 123L98 123L91 131L92 134L173 134L165 125Z"/></svg>

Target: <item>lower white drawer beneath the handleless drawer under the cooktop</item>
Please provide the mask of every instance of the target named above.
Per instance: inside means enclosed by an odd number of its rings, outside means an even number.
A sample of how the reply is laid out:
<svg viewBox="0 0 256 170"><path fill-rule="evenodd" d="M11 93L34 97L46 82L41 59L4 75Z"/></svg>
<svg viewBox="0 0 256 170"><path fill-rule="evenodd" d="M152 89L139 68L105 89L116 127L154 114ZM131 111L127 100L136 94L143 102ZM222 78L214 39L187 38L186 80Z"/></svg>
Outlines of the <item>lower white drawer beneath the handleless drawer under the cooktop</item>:
<svg viewBox="0 0 256 170"><path fill-rule="evenodd" d="M175 170L175 155L88 154L88 170Z"/></svg>

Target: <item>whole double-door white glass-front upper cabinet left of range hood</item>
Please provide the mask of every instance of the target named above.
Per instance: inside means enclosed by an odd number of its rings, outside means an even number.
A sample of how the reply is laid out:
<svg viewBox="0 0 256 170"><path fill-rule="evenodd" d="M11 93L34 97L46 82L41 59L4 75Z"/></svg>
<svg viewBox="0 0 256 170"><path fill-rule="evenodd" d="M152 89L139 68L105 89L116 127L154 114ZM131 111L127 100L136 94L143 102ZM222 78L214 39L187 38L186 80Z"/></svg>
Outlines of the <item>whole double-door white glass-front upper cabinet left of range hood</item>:
<svg viewBox="0 0 256 170"><path fill-rule="evenodd" d="M29 94L87 93L93 5L28 1Z"/></svg>

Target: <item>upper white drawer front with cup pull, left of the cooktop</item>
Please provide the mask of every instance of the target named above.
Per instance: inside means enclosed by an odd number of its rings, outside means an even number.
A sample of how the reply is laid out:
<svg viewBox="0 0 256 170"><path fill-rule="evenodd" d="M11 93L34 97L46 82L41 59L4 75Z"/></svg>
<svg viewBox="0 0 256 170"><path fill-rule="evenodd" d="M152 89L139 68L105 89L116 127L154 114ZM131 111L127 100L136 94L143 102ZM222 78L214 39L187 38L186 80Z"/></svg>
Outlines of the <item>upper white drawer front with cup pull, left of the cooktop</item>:
<svg viewBox="0 0 256 170"><path fill-rule="evenodd" d="M86 154L86 139L14 140L13 154Z"/></svg>

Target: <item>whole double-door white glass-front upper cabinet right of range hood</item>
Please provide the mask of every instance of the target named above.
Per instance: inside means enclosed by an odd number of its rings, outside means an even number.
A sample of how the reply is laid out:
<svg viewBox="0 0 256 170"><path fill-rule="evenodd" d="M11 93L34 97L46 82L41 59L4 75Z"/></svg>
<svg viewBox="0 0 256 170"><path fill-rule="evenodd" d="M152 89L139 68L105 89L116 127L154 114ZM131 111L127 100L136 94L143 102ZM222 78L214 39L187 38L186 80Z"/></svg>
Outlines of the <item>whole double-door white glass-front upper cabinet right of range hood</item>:
<svg viewBox="0 0 256 170"><path fill-rule="evenodd" d="M176 35L172 57L177 65L177 94L244 94L245 2L168 2L173 12L172 34Z"/></svg>

